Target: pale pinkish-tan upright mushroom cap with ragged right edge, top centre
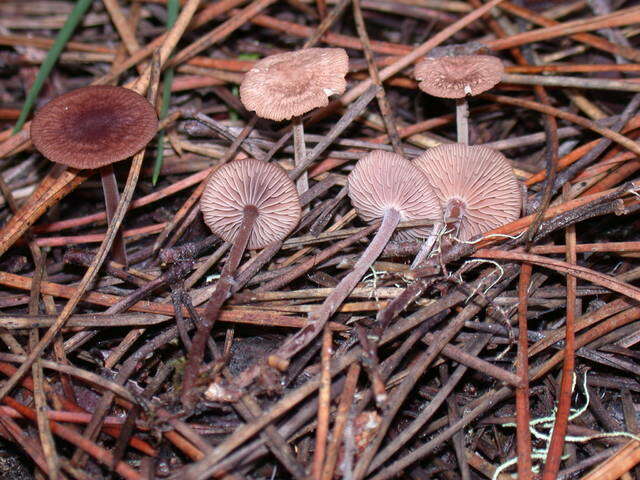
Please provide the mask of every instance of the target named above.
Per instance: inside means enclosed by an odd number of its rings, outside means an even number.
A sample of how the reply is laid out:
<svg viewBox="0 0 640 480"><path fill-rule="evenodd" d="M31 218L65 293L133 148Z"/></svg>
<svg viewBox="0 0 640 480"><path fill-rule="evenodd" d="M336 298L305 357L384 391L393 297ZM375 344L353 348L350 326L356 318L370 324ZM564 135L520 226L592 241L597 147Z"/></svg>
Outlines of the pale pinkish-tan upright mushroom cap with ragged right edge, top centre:
<svg viewBox="0 0 640 480"><path fill-rule="evenodd" d="M258 61L240 84L247 110L269 120L288 120L324 107L347 88L349 57L342 48L307 48Z"/></svg>

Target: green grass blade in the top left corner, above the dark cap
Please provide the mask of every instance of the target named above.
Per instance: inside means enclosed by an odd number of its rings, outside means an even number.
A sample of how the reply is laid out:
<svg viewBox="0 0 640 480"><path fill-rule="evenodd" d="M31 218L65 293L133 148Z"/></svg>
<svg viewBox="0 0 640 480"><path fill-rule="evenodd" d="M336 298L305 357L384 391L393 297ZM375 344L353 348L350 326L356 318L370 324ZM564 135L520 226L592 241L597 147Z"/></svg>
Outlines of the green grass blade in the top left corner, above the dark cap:
<svg viewBox="0 0 640 480"><path fill-rule="evenodd" d="M73 10L69 14L69 17L67 17L67 21L64 22L64 26L60 32L58 32L56 41L53 43L51 50L47 52L47 56L42 62L42 65L40 65L40 70L38 70L36 80L33 82L33 85L27 94L27 98L22 106L22 111L20 112L16 126L13 127L13 133L18 133L22 130L22 127L29 116L29 112L31 111L31 108L33 108L36 98L38 98L42 85L44 85L44 81L49 76L49 73L51 73L51 69L58 61L60 53L64 50L64 46L69 41L69 38L71 38L71 34L78 26L78 23L80 23L80 20L82 20L82 17L91 5L91 2L92 0L78 0L75 7L73 7Z"/></svg>

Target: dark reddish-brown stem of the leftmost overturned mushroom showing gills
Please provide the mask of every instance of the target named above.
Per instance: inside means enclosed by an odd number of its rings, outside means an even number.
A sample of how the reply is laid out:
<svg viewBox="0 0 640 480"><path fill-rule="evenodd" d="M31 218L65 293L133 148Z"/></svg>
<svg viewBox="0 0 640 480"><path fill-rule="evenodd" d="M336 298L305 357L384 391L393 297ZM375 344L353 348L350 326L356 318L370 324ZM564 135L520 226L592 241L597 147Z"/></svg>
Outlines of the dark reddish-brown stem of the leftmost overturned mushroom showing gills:
<svg viewBox="0 0 640 480"><path fill-rule="evenodd" d="M258 218L258 209L253 205L248 205L244 208L244 214L242 216L242 223L238 229L233 246L229 252L227 262L224 264L222 272L220 273L220 279L216 284L216 288L211 294L209 303L204 311L204 316L198 324L195 335L191 342L191 348L189 349L189 356L187 364L184 369L184 378L182 380L182 403L187 406L190 403L191 390L195 385L196 377L198 376L198 370L204 359L204 351L209 338L209 334L213 329L218 313L222 308L222 304L231 296L233 291L233 275L238 269L242 255L244 254L247 244L249 243L249 237L251 236L251 230Z"/></svg>

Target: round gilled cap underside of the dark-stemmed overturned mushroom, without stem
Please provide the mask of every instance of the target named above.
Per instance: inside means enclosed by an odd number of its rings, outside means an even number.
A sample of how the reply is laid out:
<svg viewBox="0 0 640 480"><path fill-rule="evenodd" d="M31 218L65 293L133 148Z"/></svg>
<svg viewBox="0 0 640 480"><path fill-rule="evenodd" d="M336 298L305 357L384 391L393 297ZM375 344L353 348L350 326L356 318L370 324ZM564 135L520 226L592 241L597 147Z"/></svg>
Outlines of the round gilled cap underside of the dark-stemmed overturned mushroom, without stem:
<svg viewBox="0 0 640 480"><path fill-rule="evenodd" d="M284 239L300 220L300 199L291 179L278 165L254 158L220 167L200 200L205 223L226 242L234 240L247 206L258 209L250 249Z"/></svg>

